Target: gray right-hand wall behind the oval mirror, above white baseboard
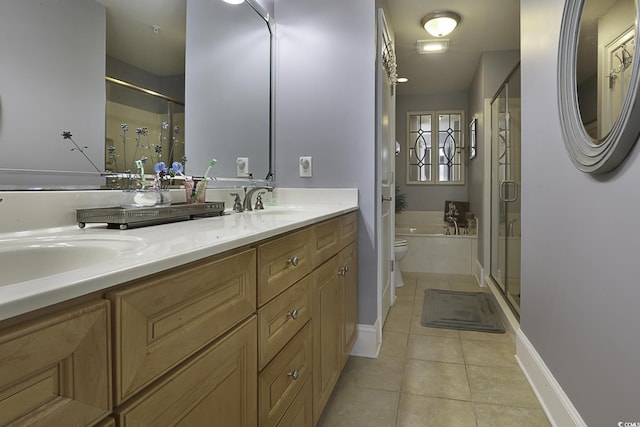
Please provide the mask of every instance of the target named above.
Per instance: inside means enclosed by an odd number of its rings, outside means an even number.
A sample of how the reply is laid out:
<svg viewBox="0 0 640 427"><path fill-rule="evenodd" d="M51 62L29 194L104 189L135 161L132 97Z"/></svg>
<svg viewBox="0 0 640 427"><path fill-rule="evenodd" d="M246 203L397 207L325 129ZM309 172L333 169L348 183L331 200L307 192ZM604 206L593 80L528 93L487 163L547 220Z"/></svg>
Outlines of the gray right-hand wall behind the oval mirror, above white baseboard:
<svg viewBox="0 0 640 427"><path fill-rule="evenodd" d="M522 0L522 331L589 426L640 420L640 147L579 172L560 132L563 0Z"/></svg>

